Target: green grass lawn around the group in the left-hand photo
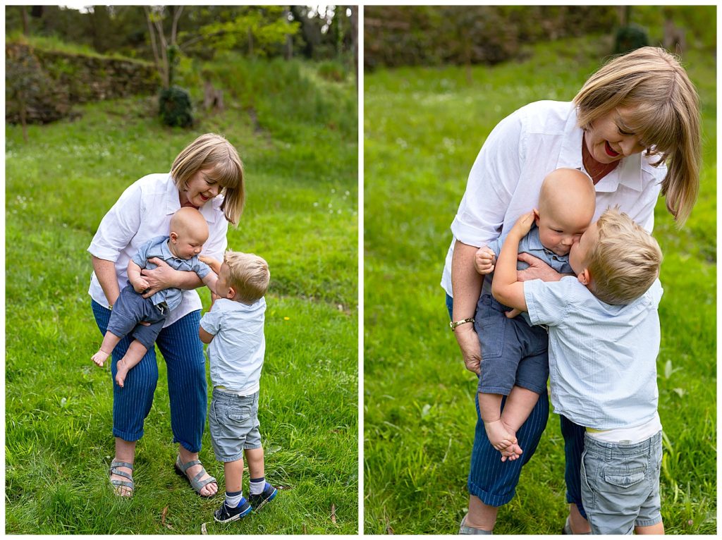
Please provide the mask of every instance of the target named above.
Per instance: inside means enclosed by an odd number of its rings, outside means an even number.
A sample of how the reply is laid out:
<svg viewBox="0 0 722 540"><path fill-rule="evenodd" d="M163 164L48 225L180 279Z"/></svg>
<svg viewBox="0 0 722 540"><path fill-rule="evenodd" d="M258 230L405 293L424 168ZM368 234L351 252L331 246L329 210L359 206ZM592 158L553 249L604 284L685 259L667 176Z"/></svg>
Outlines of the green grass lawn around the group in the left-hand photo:
<svg viewBox="0 0 722 540"><path fill-rule="evenodd" d="M239 71L251 69L233 60ZM232 76L229 66L219 81ZM243 107L251 96L236 89L230 97L230 87L227 110L196 111L192 131L160 126L147 97L86 105L75 121L30 126L27 144L18 126L6 126L7 533L201 534L204 523L209 534L357 532L355 87L313 86L304 75L313 66L294 63L286 84L269 92L264 80L277 81L280 68L252 68L264 100L260 129ZM329 129L321 113L284 118L298 87L314 110L338 103L347 131ZM303 137L284 136L277 125ZM225 134L245 165L246 208L229 230L229 247L258 253L271 268L259 418L266 476L284 487L262 513L227 526L212 518L222 497L201 500L173 472L160 354L137 447L136 495L111 494L110 372L90 361L102 336L87 295L86 249L100 219L126 186L168 171L186 144L209 131ZM209 294L199 292L207 309ZM201 459L222 489L207 430Z"/></svg>

